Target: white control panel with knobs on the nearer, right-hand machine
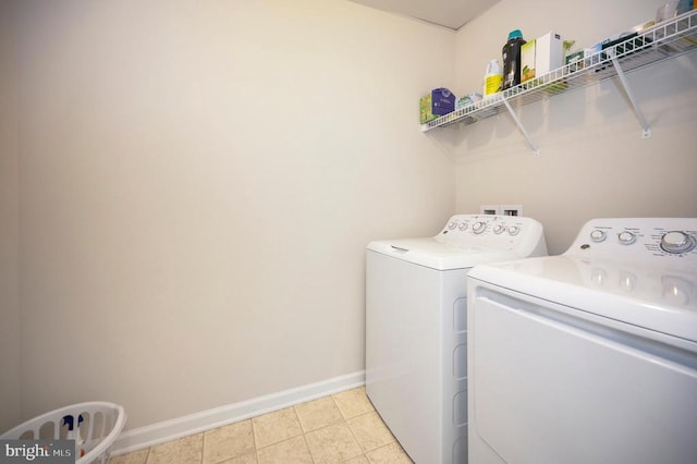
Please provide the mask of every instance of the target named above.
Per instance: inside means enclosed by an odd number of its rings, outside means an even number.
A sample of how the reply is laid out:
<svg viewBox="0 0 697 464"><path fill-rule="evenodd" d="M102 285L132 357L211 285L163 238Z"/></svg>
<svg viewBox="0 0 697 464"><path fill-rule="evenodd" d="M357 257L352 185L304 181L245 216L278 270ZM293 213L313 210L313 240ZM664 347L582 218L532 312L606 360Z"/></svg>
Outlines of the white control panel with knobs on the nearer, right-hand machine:
<svg viewBox="0 0 697 464"><path fill-rule="evenodd" d="M594 219L584 225L568 253L697 261L697 218Z"/></svg>

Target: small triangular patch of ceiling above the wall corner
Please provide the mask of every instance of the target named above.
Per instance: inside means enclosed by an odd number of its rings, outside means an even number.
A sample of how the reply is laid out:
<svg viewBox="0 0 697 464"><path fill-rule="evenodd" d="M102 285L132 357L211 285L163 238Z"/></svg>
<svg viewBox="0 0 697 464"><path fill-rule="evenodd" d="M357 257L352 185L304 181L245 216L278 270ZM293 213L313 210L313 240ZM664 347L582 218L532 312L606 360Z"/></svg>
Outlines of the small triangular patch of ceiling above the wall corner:
<svg viewBox="0 0 697 464"><path fill-rule="evenodd" d="M499 0L352 0L457 30Z"/></svg>

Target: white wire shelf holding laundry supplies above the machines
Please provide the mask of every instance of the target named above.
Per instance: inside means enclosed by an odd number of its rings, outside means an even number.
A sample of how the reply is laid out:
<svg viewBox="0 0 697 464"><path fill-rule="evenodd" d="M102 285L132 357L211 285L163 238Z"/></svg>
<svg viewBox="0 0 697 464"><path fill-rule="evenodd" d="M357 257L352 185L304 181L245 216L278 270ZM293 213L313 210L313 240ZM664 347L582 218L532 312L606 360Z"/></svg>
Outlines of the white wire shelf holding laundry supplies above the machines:
<svg viewBox="0 0 697 464"><path fill-rule="evenodd" d="M601 81L697 49L697 10L656 24L636 36L614 44L540 77L524 82L449 114L421 124L427 132L454 123L474 124L477 121L595 85ZM621 66L619 69L617 66Z"/></svg>

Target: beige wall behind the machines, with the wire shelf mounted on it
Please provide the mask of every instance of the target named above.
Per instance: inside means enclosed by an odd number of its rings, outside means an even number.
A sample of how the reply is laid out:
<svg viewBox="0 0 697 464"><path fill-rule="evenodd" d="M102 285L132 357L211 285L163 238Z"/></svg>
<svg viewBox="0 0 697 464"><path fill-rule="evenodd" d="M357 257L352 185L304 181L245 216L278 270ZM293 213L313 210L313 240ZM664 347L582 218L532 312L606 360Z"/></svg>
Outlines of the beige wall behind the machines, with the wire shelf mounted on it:
<svg viewBox="0 0 697 464"><path fill-rule="evenodd" d="M501 56L513 28L528 39L553 28L583 48L652 19L657 7L502 0L457 33L455 91L480 89L487 62ZM522 204L525 216L543 223L554 254L595 217L696 217L696 75L695 53L628 74L651 126L648 139L614 81L518 111L539 158L508 114L444 131L456 137L457 211Z"/></svg>

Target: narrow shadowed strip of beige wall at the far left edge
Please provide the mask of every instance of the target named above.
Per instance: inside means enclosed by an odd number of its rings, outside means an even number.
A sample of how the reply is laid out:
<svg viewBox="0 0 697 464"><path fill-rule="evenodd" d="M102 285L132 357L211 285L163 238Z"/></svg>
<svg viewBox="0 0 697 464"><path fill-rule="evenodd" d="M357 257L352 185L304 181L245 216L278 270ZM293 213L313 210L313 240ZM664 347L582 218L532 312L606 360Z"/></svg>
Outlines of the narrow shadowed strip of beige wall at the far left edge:
<svg viewBox="0 0 697 464"><path fill-rule="evenodd" d="M0 431L20 418L16 10L0 2Z"/></svg>

